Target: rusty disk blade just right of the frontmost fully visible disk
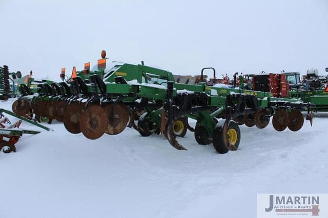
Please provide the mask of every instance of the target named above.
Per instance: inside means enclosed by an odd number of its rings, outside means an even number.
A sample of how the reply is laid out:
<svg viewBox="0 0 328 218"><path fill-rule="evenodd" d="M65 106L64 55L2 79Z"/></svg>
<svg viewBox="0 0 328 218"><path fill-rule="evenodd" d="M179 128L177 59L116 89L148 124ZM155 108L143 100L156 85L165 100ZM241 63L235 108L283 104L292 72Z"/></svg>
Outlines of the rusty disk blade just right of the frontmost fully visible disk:
<svg viewBox="0 0 328 218"><path fill-rule="evenodd" d="M122 103L110 103L105 106L105 110L108 116L106 133L108 135L117 135L121 133L127 127L130 120L130 113L127 106Z"/></svg>

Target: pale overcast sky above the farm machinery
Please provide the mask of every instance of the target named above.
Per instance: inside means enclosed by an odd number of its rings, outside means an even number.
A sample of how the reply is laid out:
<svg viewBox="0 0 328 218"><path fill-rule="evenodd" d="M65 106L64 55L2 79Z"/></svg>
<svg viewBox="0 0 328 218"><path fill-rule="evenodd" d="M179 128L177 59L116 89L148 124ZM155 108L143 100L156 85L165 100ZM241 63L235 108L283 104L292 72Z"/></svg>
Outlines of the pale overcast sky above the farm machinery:
<svg viewBox="0 0 328 218"><path fill-rule="evenodd" d="M328 67L328 1L0 0L0 64L59 81L110 60L197 75Z"/></svg>

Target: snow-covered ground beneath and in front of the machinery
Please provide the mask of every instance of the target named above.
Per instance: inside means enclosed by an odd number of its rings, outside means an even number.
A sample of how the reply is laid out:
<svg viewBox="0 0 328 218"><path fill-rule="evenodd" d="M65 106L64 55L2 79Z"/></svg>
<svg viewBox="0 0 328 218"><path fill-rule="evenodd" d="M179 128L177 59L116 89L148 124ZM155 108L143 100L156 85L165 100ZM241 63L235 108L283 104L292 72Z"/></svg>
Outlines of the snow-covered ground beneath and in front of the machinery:
<svg viewBox="0 0 328 218"><path fill-rule="evenodd" d="M257 193L328 193L327 123L241 126L240 149L219 155L191 132L178 151L134 129L92 141L55 122L0 154L0 217L256 217Z"/></svg>

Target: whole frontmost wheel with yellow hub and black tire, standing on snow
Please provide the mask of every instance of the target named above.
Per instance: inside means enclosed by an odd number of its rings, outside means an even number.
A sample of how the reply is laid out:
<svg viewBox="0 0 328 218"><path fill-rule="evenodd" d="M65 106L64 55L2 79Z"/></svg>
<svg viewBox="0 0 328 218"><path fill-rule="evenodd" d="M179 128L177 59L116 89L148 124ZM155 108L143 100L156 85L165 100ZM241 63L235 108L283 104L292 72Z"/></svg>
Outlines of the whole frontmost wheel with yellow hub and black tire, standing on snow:
<svg viewBox="0 0 328 218"><path fill-rule="evenodd" d="M229 150L237 150L240 143L240 129L238 124L231 120L220 120L213 132L213 146L219 154L226 154Z"/></svg>

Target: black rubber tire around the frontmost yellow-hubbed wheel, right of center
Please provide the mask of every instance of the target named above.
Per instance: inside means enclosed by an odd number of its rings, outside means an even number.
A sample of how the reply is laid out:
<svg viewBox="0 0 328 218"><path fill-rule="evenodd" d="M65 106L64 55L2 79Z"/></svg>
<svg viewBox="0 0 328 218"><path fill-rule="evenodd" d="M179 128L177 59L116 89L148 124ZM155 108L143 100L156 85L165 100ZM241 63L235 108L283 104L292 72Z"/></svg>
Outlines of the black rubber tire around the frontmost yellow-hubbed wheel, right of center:
<svg viewBox="0 0 328 218"><path fill-rule="evenodd" d="M238 124L235 121L230 121L227 130L224 133L224 121L225 120L221 120L221 122L216 125L213 132L213 146L219 154L226 154L229 150L231 150L229 148L230 143L227 139L227 133L229 129L234 129L237 134L237 141L234 147L238 148L240 143L240 129ZM224 134L226 134L226 136L224 136Z"/></svg>

